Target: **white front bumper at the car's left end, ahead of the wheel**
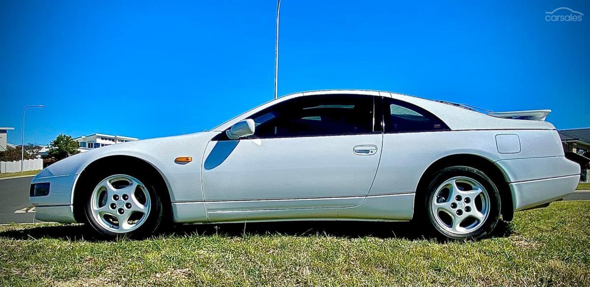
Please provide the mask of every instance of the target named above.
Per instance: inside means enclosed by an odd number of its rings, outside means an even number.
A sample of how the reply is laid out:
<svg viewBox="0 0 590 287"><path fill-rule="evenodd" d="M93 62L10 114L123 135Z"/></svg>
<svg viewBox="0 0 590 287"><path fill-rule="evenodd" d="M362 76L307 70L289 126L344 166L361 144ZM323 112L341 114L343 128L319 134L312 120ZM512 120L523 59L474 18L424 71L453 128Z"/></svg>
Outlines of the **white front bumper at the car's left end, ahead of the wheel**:
<svg viewBox="0 0 590 287"><path fill-rule="evenodd" d="M41 221L76 223L74 219L73 190L79 174L65 174L53 176L41 172L35 176L31 184L50 183L47 196L30 196L29 200L35 206L35 219Z"/></svg>

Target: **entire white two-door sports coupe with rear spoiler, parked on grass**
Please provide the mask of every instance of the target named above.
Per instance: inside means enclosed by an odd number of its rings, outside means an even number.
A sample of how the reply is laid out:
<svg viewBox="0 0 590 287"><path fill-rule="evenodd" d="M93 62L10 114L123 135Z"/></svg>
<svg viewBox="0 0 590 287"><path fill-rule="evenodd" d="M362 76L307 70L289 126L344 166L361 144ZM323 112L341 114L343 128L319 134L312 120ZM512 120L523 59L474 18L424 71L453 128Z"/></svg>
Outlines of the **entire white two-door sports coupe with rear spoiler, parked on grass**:
<svg viewBox="0 0 590 287"><path fill-rule="evenodd" d="M100 147L34 177L38 220L145 236L176 223L417 220L453 239L572 193L549 110L381 91L297 93L202 133Z"/></svg>

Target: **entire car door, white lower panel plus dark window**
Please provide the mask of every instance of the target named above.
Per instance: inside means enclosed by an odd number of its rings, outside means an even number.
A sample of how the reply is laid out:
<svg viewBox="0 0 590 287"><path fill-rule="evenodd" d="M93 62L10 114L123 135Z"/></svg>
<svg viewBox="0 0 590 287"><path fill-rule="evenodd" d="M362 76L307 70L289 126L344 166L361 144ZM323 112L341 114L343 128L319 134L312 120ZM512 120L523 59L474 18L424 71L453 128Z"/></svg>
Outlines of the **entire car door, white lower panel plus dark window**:
<svg viewBox="0 0 590 287"><path fill-rule="evenodd" d="M219 134L204 155L202 182L209 219L216 220L221 212L362 202L382 145L381 121L373 121L374 101L370 95L297 97L253 114L253 136L230 140Z"/></svg>

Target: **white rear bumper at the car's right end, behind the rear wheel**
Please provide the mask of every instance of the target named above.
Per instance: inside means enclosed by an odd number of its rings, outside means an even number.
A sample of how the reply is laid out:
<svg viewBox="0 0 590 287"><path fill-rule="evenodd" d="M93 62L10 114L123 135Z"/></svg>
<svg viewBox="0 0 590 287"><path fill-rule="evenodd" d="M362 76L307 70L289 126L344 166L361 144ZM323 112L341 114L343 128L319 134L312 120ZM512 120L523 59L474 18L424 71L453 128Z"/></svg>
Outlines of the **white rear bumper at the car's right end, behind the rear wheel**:
<svg viewBox="0 0 590 287"><path fill-rule="evenodd" d="M576 189L579 180L580 175L576 174L510 183L514 211L562 199Z"/></svg>

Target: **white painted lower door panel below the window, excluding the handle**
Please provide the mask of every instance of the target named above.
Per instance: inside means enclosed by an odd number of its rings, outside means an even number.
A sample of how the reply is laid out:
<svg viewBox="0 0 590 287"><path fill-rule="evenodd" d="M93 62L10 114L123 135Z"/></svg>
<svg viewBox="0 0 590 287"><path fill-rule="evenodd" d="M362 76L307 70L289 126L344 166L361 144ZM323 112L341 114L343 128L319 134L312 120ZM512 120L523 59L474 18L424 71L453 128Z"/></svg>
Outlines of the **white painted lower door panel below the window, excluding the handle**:
<svg viewBox="0 0 590 287"><path fill-rule="evenodd" d="M355 206L375 178L382 137L211 141L202 172L207 210ZM375 146L378 152L353 153L362 145Z"/></svg>

